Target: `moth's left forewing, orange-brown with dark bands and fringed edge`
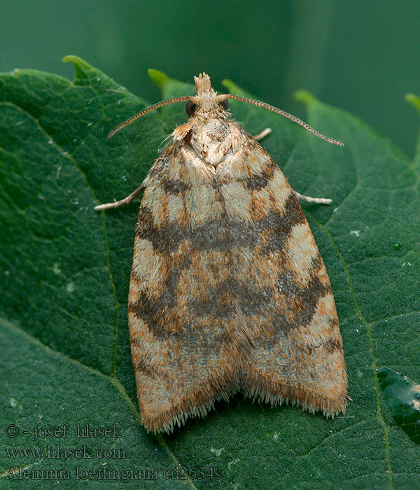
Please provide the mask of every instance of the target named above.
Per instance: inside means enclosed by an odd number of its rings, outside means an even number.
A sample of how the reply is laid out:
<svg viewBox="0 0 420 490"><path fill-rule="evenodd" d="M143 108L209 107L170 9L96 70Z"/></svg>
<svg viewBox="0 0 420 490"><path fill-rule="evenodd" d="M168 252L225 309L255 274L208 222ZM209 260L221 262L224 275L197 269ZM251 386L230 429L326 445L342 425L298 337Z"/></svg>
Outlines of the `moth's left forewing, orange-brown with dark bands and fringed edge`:
<svg viewBox="0 0 420 490"><path fill-rule="evenodd" d="M238 349L246 349L233 293L218 291L230 278L230 259L218 251L228 244L218 221L209 223L221 203L191 158L171 145L155 162L134 241L130 344L141 419L155 432L205 416L214 400L238 391Z"/></svg>

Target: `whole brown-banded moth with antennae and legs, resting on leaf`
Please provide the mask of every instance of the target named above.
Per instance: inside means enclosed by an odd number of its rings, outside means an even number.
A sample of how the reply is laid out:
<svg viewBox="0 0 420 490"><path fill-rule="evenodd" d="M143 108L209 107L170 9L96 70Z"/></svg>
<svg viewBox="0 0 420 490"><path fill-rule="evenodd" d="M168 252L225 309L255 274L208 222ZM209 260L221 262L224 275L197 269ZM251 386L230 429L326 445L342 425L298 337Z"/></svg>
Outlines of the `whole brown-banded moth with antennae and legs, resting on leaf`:
<svg viewBox="0 0 420 490"><path fill-rule="evenodd" d="M241 390L271 405L345 412L347 377L330 280L296 193L272 158L228 113L206 73L187 102L188 123L155 160L144 190L128 298L141 421L170 432ZM269 132L269 130L267 130ZM263 132L263 134L267 134Z"/></svg>

